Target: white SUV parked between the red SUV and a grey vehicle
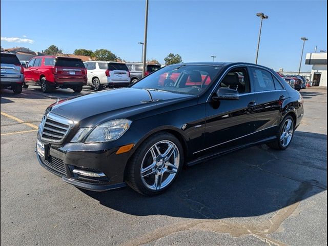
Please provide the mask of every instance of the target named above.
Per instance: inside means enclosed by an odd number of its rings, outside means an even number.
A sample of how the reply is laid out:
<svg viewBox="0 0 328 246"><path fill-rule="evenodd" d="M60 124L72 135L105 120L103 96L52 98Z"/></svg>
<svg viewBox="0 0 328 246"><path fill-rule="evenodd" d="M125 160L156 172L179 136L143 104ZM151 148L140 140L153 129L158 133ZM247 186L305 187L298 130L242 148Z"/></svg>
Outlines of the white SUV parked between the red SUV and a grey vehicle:
<svg viewBox="0 0 328 246"><path fill-rule="evenodd" d="M104 87L118 88L130 85L130 72L125 63L115 61L85 61L88 82L93 90L100 91Z"/></svg>

